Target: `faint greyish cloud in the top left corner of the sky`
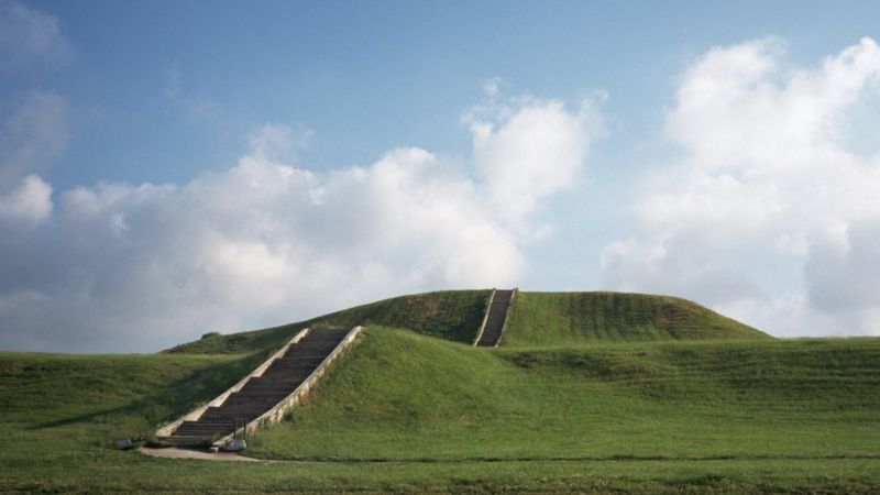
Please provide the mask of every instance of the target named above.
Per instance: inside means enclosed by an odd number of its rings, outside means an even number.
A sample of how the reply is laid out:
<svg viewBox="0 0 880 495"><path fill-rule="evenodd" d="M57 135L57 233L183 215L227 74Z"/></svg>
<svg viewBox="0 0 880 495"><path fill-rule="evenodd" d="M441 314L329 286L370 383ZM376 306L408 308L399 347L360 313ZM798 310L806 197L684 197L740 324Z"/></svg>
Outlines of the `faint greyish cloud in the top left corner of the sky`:
<svg viewBox="0 0 880 495"><path fill-rule="evenodd" d="M34 62L54 65L70 55L57 18L18 2L0 4L0 67L20 69Z"/></svg>

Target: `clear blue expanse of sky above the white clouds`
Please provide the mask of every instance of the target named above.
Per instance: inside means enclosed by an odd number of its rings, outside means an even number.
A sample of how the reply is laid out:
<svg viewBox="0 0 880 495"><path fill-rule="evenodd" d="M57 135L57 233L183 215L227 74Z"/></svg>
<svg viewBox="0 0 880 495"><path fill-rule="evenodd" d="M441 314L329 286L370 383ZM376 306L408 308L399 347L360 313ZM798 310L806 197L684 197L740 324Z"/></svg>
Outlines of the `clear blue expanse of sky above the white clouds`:
<svg viewBox="0 0 880 495"><path fill-rule="evenodd" d="M824 3L34 2L58 18L73 56L4 77L3 103L42 87L81 112L54 172L63 187L183 182L234 162L242 135L266 121L314 129L316 168L399 145L463 153L462 109L491 77L552 98L613 91L626 153L711 46L776 35L813 64L876 30L870 2Z"/></svg>

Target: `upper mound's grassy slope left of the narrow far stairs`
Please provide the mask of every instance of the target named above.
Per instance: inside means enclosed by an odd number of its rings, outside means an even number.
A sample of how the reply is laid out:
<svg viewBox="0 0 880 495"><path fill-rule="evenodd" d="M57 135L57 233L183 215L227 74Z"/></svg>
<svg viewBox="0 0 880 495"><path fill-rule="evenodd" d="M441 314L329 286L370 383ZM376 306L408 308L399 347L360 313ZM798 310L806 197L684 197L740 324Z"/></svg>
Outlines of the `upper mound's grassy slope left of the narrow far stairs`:
<svg viewBox="0 0 880 495"><path fill-rule="evenodd" d="M457 342L472 342L483 321L488 296L490 290L440 290L394 297L280 327L231 334L207 333L200 340L164 352L234 354L265 351L283 345L309 326L387 326Z"/></svg>

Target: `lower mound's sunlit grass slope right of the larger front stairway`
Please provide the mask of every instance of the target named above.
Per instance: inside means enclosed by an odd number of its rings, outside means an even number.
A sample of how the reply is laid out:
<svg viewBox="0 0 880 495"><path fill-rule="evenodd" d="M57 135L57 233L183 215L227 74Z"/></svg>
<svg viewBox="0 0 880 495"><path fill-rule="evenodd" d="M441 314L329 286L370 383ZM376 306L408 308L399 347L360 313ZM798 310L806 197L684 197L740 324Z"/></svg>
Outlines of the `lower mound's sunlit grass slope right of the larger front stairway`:
<svg viewBox="0 0 880 495"><path fill-rule="evenodd" d="M880 459L880 340L494 352L370 329L251 454L297 460Z"/></svg>

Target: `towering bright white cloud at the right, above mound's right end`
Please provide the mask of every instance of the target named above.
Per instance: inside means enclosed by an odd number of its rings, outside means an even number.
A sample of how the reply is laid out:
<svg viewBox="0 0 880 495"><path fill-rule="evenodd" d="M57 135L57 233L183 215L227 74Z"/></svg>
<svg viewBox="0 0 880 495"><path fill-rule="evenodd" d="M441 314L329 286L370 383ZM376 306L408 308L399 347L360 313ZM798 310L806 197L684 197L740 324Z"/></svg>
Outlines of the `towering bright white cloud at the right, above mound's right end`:
<svg viewBox="0 0 880 495"><path fill-rule="evenodd" d="M778 40L716 47L684 73L666 124L683 160L646 180L637 231L605 250L604 278L747 321L772 314L778 334L878 333L880 300L865 295L880 250L865 226L880 219L880 147L849 143L858 105L880 92L880 47L864 38L794 69L783 54ZM783 264L801 270L787 294L756 270Z"/></svg>

